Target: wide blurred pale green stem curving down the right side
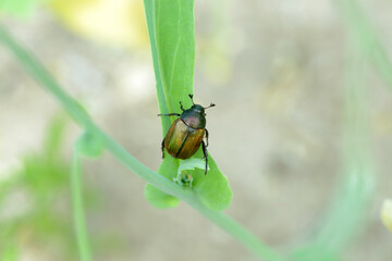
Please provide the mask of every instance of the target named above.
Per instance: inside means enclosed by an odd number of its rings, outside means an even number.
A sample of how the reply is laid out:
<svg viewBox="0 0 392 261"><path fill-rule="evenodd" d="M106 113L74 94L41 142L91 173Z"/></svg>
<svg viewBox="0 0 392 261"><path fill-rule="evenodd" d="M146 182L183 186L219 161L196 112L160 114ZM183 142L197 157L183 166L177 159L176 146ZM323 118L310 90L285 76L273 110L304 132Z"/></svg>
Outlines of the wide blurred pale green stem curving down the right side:
<svg viewBox="0 0 392 261"><path fill-rule="evenodd" d="M322 225L305 247L295 249L294 260L341 260L344 250L365 227L370 212L376 173L369 145L367 67L359 49L348 37L340 183Z"/></svg>

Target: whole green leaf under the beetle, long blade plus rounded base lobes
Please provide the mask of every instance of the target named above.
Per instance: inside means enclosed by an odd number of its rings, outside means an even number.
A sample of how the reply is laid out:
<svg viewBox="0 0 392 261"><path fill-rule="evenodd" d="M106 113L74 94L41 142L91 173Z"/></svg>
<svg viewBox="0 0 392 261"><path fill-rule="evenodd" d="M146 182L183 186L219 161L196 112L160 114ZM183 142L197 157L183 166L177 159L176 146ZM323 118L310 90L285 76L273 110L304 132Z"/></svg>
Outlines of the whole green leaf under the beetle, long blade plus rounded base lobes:
<svg viewBox="0 0 392 261"><path fill-rule="evenodd" d="M180 113L180 101L185 108L192 105L188 95L193 94L195 64L194 1L145 0L144 3L151 42L159 109L161 113ZM171 122L169 117L161 119L164 135L169 130ZM199 149L192 159L201 159L203 157L201 149ZM158 173L173 181L176 177L179 165L180 160L167 156ZM194 170L193 166L189 166L191 170L183 171L183 174L192 176L192 189L197 192L208 208L225 209L232 198L228 179L219 171L212 157L209 157L209 166L208 175L204 174L204 167ZM185 167L187 166L185 165ZM176 198L151 185L146 186L145 197L157 208L173 208L179 203Z"/></svg>

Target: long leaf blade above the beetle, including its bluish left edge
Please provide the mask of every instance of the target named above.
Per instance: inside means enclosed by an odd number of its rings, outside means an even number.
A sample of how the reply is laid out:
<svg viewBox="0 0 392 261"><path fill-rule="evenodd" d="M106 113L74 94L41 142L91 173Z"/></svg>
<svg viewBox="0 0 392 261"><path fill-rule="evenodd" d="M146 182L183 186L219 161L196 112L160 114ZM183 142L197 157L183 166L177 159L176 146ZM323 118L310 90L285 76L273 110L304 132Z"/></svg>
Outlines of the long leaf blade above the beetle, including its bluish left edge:
<svg viewBox="0 0 392 261"><path fill-rule="evenodd" d="M144 0L151 45L157 97L161 113L180 112L179 101L189 107L195 64L194 1ZM161 117L163 134L171 125Z"/></svg>

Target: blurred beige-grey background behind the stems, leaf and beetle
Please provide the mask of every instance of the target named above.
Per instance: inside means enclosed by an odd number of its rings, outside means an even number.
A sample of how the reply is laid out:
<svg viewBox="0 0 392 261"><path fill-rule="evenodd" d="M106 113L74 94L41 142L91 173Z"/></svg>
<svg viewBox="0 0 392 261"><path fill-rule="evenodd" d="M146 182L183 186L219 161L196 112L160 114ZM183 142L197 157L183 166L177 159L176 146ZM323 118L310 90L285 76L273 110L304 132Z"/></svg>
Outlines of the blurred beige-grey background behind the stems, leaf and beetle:
<svg viewBox="0 0 392 261"><path fill-rule="evenodd" d="M282 251L305 244L339 201L355 48L347 9L336 2L195 2L195 100L217 104L207 127L209 152L233 189L225 212ZM360 4L391 55L392 2ZM162 134L142 0L0 0L0 23L100 127L157 170ZM392 235L380 221L382 200L392 197L391 85L364 63L354 75L365 74L369 144L359 149L376 187L343 260L392 260ZM69 169L81 132L0 46L0 248L14 260L77 260ZM145 182L109 153L83 165L94 260L256 260L186 204L151 207Z"/></svg>

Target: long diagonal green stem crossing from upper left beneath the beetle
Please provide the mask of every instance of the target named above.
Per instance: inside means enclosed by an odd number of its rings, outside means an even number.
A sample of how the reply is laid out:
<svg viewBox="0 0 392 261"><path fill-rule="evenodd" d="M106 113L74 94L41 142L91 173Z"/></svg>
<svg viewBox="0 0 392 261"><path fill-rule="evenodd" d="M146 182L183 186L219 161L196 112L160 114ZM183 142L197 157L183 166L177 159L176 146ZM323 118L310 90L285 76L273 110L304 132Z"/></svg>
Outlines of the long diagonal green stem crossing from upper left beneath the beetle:
<svg viewBox="0 0 392 261"><path fill-rule="evenodd" d="M142 164L136 158L130 154L124 148L115 142L111 137L97 127L83 108L71 98L50 76L47 70L40 62L34 58L22 46L0 26L0 41L16 57L21 64L37 79L51 95L53 95L66 112L75 119L75 122L85 129L93 132L96 137L100 138L105 148L113 154L113 157L124 164L130 171L135 173L140 178L145 179L158 189L180 198L187 202L192 208L197 210L200 214L224 229L228 234L232 235L235 239L245 245L248 249L253 250L258 257L269 261L283 261L278 252L267 247L264 243L257 239L249 231L244 228L233 219L228 215L216 212L205 207L197 198L196 194L192 190L184 189L177 184L169 181L168 178L159 175L158 173L149 170ZM74 156L76 157L76 156ZM75 160L75 159L74 159ZM77 162L76 162L77 163ZM75 163L74 167L77 167ZM76 184L77 185L77 184ZM77 199L81 202L81 199ZM77 217L79 219L79 217ZM84 220L84 219L82 219ZM88 256L87 256L88 257Z"/></svg>

